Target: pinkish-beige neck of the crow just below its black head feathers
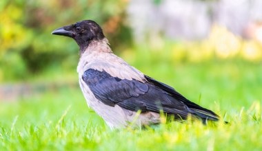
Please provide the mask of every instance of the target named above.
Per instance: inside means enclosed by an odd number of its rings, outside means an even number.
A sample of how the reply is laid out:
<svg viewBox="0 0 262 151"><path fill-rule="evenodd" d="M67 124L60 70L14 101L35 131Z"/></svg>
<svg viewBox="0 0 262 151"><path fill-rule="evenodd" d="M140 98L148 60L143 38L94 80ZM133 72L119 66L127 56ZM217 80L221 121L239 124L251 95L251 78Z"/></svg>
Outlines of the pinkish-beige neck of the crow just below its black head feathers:
<svg viewBox="0 0 262 151"><path fill-rule="evenodd" d="M92 54L92 52L97 53L112 53L111 48L109 47L108 39L103 38L102 40L92 40L90 41L88 47L80 47L80 55L83 54Z"/></svg>

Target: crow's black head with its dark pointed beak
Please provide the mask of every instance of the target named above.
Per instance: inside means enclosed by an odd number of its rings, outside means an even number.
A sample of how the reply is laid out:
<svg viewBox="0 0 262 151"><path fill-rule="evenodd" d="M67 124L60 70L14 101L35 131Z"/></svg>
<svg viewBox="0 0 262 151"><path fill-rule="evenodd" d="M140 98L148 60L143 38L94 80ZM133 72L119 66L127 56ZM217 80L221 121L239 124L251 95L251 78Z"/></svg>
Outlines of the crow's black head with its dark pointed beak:
<svg viewBox="0 0 262 151"><path fill-rule="evenodd" d="M68 36L73 38L80 49L88 47L92 40L102 40L105 38L101 27L94 21L79 21L72 25L66 25L54 30L52 34Z"/></svg>

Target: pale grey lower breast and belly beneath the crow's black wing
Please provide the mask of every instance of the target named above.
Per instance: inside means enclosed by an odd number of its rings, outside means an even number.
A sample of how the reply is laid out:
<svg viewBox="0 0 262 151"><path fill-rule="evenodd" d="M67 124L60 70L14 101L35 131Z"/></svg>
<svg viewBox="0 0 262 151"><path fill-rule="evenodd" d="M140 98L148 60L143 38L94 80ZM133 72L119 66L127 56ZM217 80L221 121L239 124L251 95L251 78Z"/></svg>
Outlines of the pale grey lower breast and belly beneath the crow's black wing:
<svg viewBox="0 0 262 151"><path fill-rule="evenodd" d="M110 128L123 128L131 125L137 127L160 122L158 113L147 112L139 114L134 111L128 111L118 105L108 106L103 104L103 102L94 97L81 78L79 79L79 84L88 106L101 116Z"/></svg>

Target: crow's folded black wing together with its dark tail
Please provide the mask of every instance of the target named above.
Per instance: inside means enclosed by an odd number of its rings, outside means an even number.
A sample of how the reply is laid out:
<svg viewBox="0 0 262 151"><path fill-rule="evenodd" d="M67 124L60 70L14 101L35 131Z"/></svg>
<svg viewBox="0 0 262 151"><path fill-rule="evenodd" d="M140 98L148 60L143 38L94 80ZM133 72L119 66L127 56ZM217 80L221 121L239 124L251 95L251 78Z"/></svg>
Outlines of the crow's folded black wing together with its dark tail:
<svg viewBox="0 0 262 151"><path fill-rule="evenodd" d="M218 119L212 111L190 102L172 87L148 76L145 76L147 81L143 83L138 80L122 80L112 77L105 71L88 69L82 78L94 96L109 106L118 104L130 111L141 110L141 112L159 113L162 110L183 119L189 113L202 119Z"/></svg>

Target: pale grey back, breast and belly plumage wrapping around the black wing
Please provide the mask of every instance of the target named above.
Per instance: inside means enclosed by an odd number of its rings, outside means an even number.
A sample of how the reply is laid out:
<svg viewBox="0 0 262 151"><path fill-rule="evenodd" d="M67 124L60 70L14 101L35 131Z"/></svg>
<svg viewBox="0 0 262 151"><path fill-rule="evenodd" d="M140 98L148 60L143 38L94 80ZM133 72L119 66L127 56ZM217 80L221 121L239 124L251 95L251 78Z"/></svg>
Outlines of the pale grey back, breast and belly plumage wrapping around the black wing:
<svg viewBox="0 0 262 151"><path fill-rule="evenodd" d="M113 62L113 63L108 63ZM109 53L83 54L79 61L77 71L79 73L79 84L88 106L90 106L99 116L101 116L110 128L121 128L133 124L133 126L159 123L158 113L141 113L128 111L117 104L108 106L97 100L90 88L82 79L83 73L88 69L106 71L110 75L121 79L136 79L143 82L143 73L128 65L121 58Z"/></svg>

